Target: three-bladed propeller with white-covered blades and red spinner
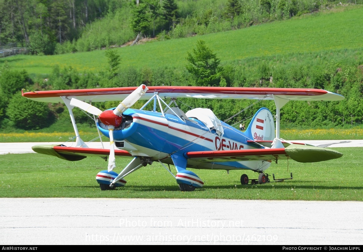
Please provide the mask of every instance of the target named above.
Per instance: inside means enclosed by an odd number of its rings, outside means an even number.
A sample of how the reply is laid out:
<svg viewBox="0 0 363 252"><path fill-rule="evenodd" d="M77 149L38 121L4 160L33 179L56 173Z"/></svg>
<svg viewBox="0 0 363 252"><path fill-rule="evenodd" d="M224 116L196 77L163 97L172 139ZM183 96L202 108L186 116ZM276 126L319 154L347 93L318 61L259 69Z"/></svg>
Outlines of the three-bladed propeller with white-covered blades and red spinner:
<svg viewBox="0 0 363 252"><path fill-rule="evenodd" d="M107 126L110 135L110 155L109 155L109 165L107 167L108 171L112 171L115 167L115 146L114 146L114 135L113 131L115 127L118 127L122 123L122 113L126 109L135 104L148 90L146 85L140 85L131 94L129 94L114 110L102 111L89 103L72 98L70 105L78 107L90 114L98 116L99 121Z"/></svg>

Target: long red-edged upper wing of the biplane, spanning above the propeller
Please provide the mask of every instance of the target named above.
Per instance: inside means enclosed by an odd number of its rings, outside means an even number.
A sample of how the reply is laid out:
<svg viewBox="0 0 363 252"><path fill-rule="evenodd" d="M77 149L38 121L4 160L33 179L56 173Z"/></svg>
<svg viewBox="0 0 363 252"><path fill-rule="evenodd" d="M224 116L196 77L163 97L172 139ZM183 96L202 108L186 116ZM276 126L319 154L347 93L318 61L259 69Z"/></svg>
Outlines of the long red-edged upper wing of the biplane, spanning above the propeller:
<svg viewBox="0 0 363 252"><path fill-rule="evenodd" d="M97 88L26 92L23 96L35 101L63 102L61 97L77 98L85 102L122 101L136 87ZM270 99L274 96L289 100L340 101L342 95L322 89L303 88L228 88L191 86L150 86L141 99L150 99L155 92L167 98L205 98L205 99Z"/></svg>

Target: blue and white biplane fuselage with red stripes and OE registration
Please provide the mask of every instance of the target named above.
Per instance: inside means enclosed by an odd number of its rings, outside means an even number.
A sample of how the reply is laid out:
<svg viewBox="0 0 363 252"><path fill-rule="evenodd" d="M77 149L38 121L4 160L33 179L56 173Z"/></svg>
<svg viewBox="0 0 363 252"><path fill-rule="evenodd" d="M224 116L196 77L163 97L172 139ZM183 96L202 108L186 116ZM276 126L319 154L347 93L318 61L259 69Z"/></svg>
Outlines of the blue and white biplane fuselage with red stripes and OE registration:
<svg viewBox="0 0 363 252"><path fill-rule="evenodd" d="M174 114L127 109L123 113L123 123L114 129L115 145L127 150L133 156L151 157L166 164L173 164L171 154L184 155L189 151L215 151L255 149L247 143L245 134L234 127L223 125L223 135L209 129L197 118L181 120ZM109 137L107 126L98 122L97 126ZM265 170L269 162L199 162L188 159L188 168L198 169L249 169Z"/></svg>

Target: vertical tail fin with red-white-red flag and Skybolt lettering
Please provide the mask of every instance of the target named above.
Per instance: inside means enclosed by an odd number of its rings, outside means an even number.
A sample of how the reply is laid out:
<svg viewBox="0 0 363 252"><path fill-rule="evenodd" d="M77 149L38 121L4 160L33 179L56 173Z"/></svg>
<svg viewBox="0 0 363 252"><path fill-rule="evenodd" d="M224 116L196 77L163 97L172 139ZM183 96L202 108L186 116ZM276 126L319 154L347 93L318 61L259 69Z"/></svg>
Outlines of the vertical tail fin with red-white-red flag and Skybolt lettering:
<svg viewBox="0 0 363 252"><path fill-rule="evenodd" d="M254 141L273 141L275 138L275 123L269 109L262 107L253 116L245 134Z"/></svg>

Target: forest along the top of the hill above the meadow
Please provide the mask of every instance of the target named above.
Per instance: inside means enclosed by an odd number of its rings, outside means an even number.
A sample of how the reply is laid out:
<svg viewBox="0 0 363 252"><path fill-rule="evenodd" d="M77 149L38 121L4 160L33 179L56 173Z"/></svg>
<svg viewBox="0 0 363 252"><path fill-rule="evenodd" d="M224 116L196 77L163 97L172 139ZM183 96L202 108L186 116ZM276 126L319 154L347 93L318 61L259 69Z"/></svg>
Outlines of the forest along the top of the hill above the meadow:
<svg viewBox="0 0 363 252"><path fill-rule="evenodd" d="M142 38L190 37L363 0L0 0L0 48L84 52ZM16 47L14 46L14 47Z"/></svg>

